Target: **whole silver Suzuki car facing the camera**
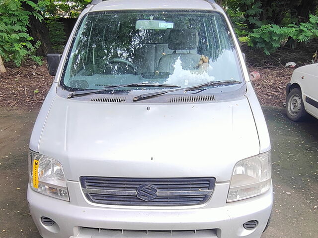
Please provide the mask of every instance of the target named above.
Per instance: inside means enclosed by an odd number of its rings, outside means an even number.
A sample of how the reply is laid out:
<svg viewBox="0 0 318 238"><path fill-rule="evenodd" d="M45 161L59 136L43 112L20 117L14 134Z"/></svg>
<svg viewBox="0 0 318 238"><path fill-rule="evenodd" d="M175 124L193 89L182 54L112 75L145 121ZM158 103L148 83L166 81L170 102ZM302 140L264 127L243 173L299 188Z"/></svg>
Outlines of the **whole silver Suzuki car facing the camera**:
<svg viewBox="0 0 318 238"><path fill-rule="evenodd" d="M266 122L212 0L95 0L35 122L27 200L43 238L260 238Z"/></svg>

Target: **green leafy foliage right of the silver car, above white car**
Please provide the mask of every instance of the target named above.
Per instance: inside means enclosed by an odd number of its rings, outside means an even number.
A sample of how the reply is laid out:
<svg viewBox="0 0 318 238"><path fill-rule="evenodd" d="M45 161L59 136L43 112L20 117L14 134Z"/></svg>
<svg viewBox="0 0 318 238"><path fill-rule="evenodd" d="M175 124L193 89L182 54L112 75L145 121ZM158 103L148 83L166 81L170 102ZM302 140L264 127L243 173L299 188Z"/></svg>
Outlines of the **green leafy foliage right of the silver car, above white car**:
<svg viewBox="0 0 318 238"><path fill-rule="evenodd" d="M296 47L318 37L318 0L227 0L240 41L266 55L282 45ZM313 13L313 14L310 14Z"/></svg>

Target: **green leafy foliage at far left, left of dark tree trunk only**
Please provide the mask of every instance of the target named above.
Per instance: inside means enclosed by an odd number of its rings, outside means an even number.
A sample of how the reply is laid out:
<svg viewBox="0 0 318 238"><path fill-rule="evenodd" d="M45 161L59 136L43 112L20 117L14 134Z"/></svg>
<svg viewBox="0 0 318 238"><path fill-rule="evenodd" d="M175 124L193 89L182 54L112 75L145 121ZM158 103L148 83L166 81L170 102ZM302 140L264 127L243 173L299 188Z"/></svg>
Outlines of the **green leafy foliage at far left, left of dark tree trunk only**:
<svg viewBox="0 0 318 238"><path fill-rule="evenodd" d="M27 26L31 14L42 20L38 11L46 3L39 1L38 4L35 4L25 0L34 9L29 12L23 10L21 2L22 0L2 0L0 2L0 56L6 62L14 62L16 66L21 66L28 58L40 64L41 59L35 56L35 51L41 43L32 42L33 38L27 33Z"/></svg>

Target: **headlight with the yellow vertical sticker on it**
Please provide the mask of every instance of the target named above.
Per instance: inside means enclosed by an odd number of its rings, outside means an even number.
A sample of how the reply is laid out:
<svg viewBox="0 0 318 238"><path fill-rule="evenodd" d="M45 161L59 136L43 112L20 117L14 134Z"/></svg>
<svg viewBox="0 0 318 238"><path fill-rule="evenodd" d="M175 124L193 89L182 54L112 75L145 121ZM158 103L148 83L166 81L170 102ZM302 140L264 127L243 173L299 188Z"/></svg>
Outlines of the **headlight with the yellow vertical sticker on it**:
<svg viewBox="0 0 318 238"><path fill-rule="evenodd" d="M56 160L29 151L29 182L37 192L70 201L62 165Z"/></svg>

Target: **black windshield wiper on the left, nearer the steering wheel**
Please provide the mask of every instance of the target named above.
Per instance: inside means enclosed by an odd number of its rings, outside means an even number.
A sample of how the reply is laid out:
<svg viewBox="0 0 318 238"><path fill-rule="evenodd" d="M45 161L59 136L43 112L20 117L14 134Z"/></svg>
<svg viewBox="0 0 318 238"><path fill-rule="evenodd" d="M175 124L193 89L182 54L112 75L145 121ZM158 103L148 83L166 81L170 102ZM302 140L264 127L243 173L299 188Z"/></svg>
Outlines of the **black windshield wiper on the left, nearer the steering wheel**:
<svg viewBox="0 0 318 238"><path fill-rule="evenodd" d="M99 92L107 92L112 91L117 88L126 88L126 87L160 87L160 88L180 88L180 86L177 85L171 85L171 84L157 84L157 83L131 83L131 84L124 84L124 85L112 85L112 86L106 86L103 89L98 90L84 90L84 91L77 91L72 92L68 95L67 98L74 98L79 96L84 96L88 94L93 93L99 93Z"/></svg>

